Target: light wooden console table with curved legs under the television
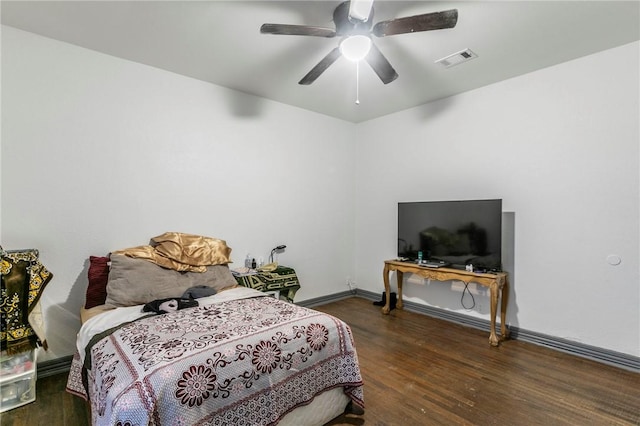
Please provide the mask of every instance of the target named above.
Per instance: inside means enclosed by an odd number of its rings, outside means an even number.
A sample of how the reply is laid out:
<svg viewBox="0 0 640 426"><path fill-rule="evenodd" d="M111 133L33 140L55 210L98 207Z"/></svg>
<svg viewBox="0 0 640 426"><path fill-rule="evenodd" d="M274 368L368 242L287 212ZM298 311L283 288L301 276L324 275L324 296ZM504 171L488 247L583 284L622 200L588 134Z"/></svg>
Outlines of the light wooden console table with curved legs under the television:
<svg viewBox="0 0 640 426"><path fill-rule="evenodd" d="M436 281L463 281L465 283L474 282L485 287L489 287L491 291L491 333L489 334L489 343L491 346L498 346L500 340L508 337L506 325L507 302L509 299L509 282L505 272L492 274L483 274L477 272L463 271L452 268L429 268L426 266L418 266L415 263L400 262L397 260L385 260L384 262L384 290L386 292L386 304L382 307L382 313L389 314L389 274L396 271L398 279L398 302L396 307L402 309L402 278L405 272L420 275L421 277ZM498 293L500 293L500 334L499 339L496 335L496 312L498 310Z"/></svg>

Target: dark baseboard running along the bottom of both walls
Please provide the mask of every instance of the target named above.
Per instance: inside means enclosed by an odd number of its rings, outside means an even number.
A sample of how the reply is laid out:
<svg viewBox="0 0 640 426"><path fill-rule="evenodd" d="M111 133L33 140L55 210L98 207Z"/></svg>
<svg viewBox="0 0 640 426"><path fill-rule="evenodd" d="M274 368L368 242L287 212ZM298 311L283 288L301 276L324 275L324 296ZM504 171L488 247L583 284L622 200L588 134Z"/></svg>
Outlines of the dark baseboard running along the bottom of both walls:
<svg viewBox="0 0 640 426"><path fill-rule="evenodd" d="M314 299L303 300L296 304L305 307L320 306L338 300L347 299L349 297L361 297L364 299L379 301L380 293L374 293L368 290L344 291L334 293L328 296L317 297ZM434 308L433 306L421 305L418 303L403 301L404 309L407 311L417 312L434 318L443 319L445 321L462 324L469 327L484 330L487 333L491 330L491 323L488 320L474 318L457 312L446 311L444 309ZM608 349L598 348L596 346L585 345L579 342L561 339L559 337L549 336L534 331L524 330L519 327L509 327L511 339L522 340L536 345L566 352L582 358L591 359L603 364L612 365L614 367L623 368L633 372L640 372L640 358ZM73 356L66 356L54 360L43 361L38 363L38 377L53 376L55 374L67 373L71 368L71 360Z"/></svg>

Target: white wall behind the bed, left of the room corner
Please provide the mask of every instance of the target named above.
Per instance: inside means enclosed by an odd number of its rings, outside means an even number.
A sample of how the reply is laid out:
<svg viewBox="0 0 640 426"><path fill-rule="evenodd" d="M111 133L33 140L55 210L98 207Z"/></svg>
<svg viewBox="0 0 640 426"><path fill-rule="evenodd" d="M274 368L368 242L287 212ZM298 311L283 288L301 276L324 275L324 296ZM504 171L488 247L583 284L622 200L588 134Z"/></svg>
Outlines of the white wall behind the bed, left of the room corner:
<svg viewBox="0 0 640 426"><path fill-rule="evenodd" d="M351 123L10 27L2 89L2 245L54 274L39 361L74 352L88 257L165 231L225 239L238 266L286 244L297 300L347 289Z"/></svg>

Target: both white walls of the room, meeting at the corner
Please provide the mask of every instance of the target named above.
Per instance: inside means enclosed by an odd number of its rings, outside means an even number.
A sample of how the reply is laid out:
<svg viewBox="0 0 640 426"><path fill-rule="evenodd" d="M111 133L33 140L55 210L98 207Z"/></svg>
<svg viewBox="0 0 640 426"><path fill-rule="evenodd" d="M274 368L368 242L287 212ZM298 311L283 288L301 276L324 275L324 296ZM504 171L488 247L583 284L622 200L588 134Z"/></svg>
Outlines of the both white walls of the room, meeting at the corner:
<svg viewBox="0 0 640 426"><path fill-rule="evenodd" d="M2 29L0 241L55 275L41 360L74 350L89 255L168 230L237 263L284 243L297 300L378 292L398 201L498 197L509 322L640 355L638 43L353 125ZM488 318L440 283L405 295Z"/></svg>

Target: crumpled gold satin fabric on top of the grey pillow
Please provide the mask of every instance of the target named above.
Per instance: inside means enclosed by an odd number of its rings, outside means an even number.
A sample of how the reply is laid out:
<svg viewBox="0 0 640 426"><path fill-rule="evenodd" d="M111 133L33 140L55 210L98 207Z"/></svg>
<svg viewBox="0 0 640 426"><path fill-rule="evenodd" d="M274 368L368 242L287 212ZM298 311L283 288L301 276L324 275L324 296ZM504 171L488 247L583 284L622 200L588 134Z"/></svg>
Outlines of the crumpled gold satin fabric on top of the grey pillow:
<svg viewBox="0 0 640 426"><path fill-rule="evenodd" d="M181 232L165 232L153 237L151 245L114 251L128 257L145 259L176 271L205 272L208 265L231 263L231 248L226 241Z"/></svg>

